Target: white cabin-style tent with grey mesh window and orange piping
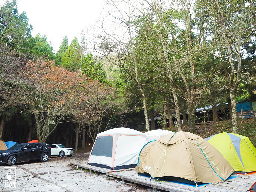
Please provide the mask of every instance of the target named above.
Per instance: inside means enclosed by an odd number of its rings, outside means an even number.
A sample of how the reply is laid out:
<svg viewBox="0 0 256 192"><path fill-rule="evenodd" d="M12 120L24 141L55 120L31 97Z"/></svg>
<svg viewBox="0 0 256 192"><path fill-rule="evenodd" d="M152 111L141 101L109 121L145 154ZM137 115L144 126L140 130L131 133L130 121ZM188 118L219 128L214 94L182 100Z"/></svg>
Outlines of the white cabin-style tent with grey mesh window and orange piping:
<svg viewBox="0 0 256 192"><path fill-rule="evenodd" d="M121 127L104 131L96 137L88 164L113 170L134 168L146 143L146 135L133 129Z"/></svg>

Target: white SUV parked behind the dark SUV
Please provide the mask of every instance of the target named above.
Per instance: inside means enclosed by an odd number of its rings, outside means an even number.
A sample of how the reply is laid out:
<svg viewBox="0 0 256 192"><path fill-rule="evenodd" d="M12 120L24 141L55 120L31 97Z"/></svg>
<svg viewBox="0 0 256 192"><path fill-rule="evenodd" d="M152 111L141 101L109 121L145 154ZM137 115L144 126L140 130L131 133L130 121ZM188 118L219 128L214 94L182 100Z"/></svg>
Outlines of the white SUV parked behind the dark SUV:
<svg viewBox="0 0 256 192"><path fill-rule="evenodd" d="M74 154L74 149L67 148L61 144L51 143L46 145L48 145L51 149L52 155L58 155L60 157L64 157L65 155L67 155L68 157L71 157Z"/></svg>

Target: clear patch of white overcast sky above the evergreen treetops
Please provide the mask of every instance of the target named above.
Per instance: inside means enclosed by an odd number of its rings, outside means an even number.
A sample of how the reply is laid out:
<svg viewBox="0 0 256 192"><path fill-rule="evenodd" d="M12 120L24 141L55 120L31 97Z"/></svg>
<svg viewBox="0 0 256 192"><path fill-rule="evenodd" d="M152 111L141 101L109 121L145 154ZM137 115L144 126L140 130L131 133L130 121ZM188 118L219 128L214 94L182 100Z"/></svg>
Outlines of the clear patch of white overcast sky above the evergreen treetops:
<svg viewBox="0 0 256 192"><path fill-rule="evenodd" d="M99 18L104 0L18 0L18 12L25 11L33 25L32 36L46 35L58 51L67 35L69 43Z"/></svg>

